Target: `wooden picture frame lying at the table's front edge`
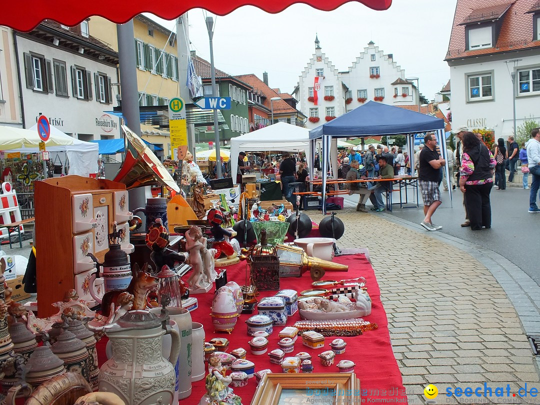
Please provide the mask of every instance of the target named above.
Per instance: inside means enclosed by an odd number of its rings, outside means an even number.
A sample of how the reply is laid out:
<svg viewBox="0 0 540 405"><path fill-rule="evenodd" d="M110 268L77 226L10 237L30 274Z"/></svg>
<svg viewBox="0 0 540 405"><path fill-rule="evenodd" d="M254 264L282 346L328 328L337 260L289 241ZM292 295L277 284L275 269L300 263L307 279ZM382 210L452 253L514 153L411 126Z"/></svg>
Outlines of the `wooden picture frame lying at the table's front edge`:
<svg viewBox="0 0 540 405"><path fill-rule="evenodd" d="M255 390L251 405L301 403L302 396L321 405L360 405L360 393L360 380L354 373L268 373ZM295 400L291 402L288 399L292 397Z"/></svg>

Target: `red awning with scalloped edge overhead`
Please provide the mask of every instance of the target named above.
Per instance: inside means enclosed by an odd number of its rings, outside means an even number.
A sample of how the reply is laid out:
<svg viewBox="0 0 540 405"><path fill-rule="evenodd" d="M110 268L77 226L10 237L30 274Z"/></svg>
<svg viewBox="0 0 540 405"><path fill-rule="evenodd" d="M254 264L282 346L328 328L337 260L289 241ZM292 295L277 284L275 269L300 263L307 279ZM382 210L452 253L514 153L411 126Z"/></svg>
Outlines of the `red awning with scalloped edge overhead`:
<svg viewBox="0 0 540 405"><path fill-rule="evenodd" d="M206 9L224 16L242 5L253 5L270 13L278 13L294 3L305 3L312 7L330 11L349 0L186 0L173 2L149 2L131 0L129 2L110 0L23 0L5 1L0 13L0 25L19 31L30 31L45 19L53 19L60 24L74 26L85 18L102 16L110 21L123 24L141 12L150 12L158 17L172 20L194 8ZM374 10L386 10L392 0L359 0Z"/></svg>

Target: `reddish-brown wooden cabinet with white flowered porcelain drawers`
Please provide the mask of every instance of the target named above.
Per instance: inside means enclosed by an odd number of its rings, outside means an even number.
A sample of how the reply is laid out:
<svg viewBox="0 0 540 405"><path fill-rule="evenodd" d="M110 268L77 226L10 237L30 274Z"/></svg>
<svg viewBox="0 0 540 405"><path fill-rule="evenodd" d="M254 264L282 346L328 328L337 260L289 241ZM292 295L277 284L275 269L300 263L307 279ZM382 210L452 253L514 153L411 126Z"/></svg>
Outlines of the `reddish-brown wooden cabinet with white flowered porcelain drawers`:
<svg viewBox="0 0 540 405"><path fill-rule="evenodd" d="M36 181L34 199L38 316L45 318L58 312L52 303L62 301L69 289L93 301L89 281L95 267L86 253L103 262L114 221L124 230L121 244L129 245L131 213L126 186L104 179Z"/></svg>

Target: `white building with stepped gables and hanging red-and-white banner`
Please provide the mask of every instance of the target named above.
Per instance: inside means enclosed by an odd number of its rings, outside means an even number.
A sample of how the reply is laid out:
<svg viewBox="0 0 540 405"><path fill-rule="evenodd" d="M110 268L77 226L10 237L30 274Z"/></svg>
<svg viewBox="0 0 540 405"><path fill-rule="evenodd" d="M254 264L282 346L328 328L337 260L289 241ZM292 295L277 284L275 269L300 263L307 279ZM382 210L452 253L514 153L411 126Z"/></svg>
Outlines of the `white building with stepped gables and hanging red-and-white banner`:
<svg viewBox="0 0 540 405"><path fill-rule="evenodd" d="M319 89L316 91L316 89ZM419 93L405 71L370 41L353 65L340 72L322 53L315 38L315 53L303 70L293 95L312 129L355 109L368 100L389 105L419 104Z"/></svg>

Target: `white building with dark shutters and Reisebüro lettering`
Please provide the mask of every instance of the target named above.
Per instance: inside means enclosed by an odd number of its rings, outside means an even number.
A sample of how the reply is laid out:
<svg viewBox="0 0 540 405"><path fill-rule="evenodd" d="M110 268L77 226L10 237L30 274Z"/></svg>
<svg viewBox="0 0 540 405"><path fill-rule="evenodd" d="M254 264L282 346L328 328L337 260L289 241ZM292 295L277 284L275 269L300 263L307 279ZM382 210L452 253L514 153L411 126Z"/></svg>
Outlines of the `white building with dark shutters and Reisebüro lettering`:
<svg viewBox="0 0 540 405"><path fill-rule="evenodd" d="M67 27L45 21L28 33L15 31L23 125L39 114L81 140L120 137L117 105L118 53L92 37L88 22Z"/></svg>

